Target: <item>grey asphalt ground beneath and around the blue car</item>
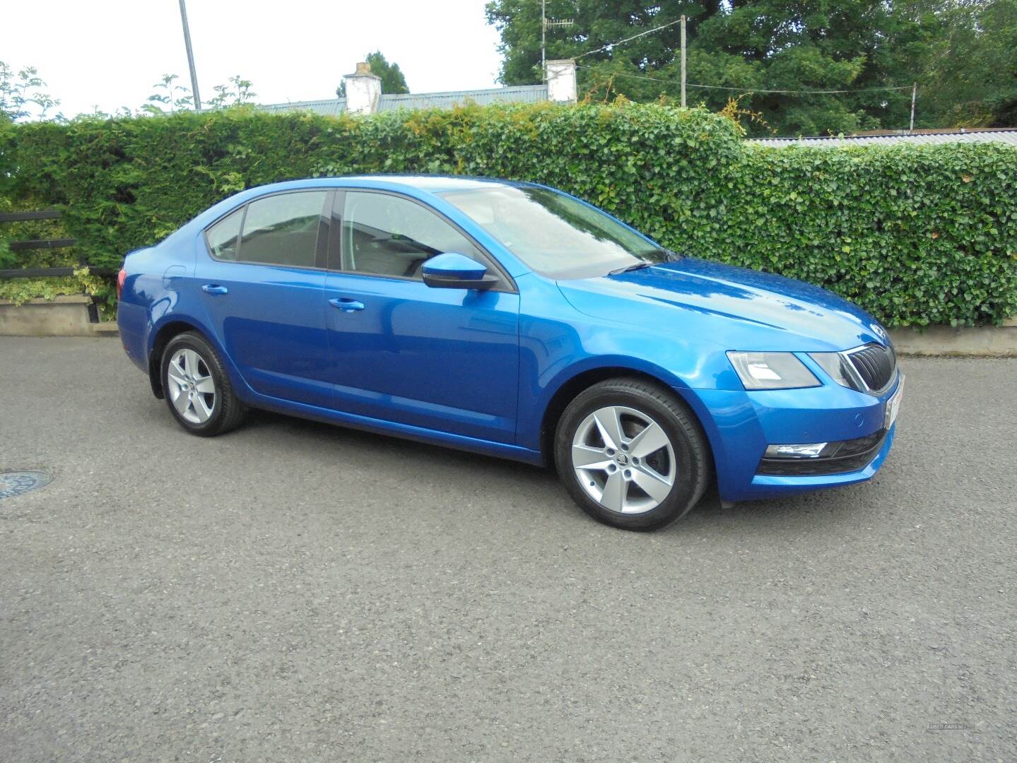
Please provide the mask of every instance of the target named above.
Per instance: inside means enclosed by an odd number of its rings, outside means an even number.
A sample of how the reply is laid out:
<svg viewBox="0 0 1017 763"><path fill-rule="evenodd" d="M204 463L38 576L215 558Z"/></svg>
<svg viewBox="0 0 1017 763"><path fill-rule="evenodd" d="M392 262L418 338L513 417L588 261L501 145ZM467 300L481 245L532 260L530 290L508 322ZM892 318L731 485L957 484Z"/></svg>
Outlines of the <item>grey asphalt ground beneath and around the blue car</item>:
<svg viewBox="0 0 1017 763"><path fill-rule="evenodd" d="M1017 361L904 365L870 484L638 534L0 338L0 470L53 475L0 499L0 759L1017 760Z"/></svg>

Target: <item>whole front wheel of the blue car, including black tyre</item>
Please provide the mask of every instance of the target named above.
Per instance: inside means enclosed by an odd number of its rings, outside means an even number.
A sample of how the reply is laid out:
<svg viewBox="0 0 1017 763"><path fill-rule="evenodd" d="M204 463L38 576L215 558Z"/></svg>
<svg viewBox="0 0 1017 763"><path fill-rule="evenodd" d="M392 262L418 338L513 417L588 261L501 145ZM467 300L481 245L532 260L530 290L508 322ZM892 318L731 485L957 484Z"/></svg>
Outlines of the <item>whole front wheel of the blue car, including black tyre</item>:
<svg viewBox="0 0 1017 763"><path fill-rule="evenodd" d="M558 475L590 516L651 530L684 516L711 475L706 438L672 392L608 379L573 400L554 439Z"/></svg>

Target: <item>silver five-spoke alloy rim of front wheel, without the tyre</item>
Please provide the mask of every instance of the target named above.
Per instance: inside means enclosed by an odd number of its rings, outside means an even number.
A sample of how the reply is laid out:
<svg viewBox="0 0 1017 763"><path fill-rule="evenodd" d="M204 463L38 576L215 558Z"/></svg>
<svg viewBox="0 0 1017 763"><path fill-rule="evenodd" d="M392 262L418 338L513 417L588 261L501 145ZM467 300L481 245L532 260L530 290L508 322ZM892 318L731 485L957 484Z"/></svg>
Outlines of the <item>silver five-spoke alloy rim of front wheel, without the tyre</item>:
<svg viewBox="0 0 1017 763"><path fill-rule="evenodd" d="M676 476L674 449L646 414L608 405L583 420L572 444L579 484L601 506L642 514L660 505Z"/></svg>

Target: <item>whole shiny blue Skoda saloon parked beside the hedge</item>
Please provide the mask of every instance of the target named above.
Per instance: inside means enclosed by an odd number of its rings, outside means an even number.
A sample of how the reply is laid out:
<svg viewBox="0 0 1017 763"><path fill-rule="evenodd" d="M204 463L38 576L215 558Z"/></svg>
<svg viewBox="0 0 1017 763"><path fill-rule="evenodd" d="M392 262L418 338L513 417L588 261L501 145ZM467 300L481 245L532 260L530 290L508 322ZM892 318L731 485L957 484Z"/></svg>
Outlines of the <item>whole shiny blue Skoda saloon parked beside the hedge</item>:
<svg viewBox="0 0 1017 763"><path fill-rule="evenodd" d="M118 278L124 349L200 436L264 408L552 465L627 529L870 479L903 391L817 287L669 251L546 186L252 188Z"/></svg>

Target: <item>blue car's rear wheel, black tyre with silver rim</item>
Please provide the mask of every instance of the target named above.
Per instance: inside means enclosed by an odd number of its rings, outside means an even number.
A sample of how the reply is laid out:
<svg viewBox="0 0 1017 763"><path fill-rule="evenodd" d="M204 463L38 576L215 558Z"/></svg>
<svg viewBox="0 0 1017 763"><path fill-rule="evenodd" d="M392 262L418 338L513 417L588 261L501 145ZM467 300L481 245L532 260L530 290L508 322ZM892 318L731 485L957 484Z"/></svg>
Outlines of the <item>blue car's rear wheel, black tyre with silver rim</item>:
<svg viewBox="0 0 1017 763"><path fill-rule="evenodd" d="M170 339L161 373L170 412L191 434L215 437L243 421L246 410L223 362L200 334L188 331Z"/></svg>

